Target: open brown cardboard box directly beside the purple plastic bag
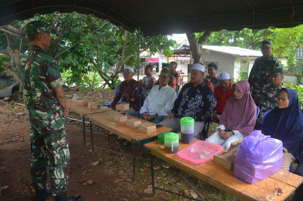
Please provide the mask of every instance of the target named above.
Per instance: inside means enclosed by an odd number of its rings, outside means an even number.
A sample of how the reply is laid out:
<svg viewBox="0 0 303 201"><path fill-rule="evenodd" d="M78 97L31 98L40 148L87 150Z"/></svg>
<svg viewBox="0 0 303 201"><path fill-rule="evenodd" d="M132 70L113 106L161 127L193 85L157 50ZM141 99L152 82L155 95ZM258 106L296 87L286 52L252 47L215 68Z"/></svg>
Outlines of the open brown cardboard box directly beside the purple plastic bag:
<svg viewBox="0 0 303 201"><path fill-rule="evenodd" d="M242 140L243 139L232 142L228 149L228 152L219 152L218 154L215 154L214 164L217 164L228 170L234 169L235 158L240 148Z"/></svg>

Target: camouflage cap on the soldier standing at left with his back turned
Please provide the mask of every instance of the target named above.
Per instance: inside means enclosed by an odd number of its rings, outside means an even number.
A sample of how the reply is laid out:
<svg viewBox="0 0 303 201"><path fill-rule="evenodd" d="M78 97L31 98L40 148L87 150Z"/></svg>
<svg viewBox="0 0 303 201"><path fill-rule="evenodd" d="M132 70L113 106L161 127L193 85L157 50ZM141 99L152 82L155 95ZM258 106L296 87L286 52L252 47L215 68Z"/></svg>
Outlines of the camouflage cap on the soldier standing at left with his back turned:
<svg viewBox="0 0 303 201"><path fill-rule="evenodd" d="M32 21L25 25L25 34L35 34L45 32L48 34L55 34L57 31L52 29L48 22L45 21Z"/></svg>

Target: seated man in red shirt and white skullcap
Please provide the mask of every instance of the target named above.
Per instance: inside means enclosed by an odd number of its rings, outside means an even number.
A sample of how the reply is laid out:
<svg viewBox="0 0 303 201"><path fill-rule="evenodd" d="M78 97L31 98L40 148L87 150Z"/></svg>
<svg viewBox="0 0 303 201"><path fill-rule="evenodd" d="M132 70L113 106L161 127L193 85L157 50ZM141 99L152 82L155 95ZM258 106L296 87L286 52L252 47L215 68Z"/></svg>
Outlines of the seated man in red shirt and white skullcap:
<svg viewBox="0 0 303 201"><path fill-rule="evenodd" d="M234 95L232 90L232 83L228 73L221 73L219 75L220 85L215 90L215 98L217 105L214 108L214 112L211 114L211 119L218 121L226 105L227 100Z"/></svg>

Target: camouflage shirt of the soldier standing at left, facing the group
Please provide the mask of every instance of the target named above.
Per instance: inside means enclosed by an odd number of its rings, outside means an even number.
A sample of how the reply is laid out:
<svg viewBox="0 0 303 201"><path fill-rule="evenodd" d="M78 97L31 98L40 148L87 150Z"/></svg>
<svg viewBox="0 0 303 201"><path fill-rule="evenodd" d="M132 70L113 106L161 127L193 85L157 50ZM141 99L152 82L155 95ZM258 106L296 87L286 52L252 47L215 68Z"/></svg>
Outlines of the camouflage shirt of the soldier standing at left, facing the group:
<svg viewBox="0 0 303 201"><path fill-rule="evenodd" d="M63 81L55 59L40 47L30 45L20 60L19 73L30 129L42 135L64 131L65 116L54 90Z"/></svg>

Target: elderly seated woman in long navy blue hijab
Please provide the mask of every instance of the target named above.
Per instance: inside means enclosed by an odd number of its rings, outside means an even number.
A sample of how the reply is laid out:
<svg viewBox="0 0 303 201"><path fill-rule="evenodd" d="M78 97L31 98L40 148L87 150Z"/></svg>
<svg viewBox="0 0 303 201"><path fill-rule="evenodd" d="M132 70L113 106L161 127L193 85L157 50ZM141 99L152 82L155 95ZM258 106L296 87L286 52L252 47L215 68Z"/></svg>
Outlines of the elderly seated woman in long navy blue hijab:
<svg viewBox="0 0 303 201"><path fill-rule="evenodd" d="M303 116L298 95L295 91L282 88L278 94L278 106L272 109L262 124L262 133L283 143L282 169L288 171L290 164L302 160ZM303 176L303 163L294 172ZM303 184L295 191L292 200L302 200Z"/></svg>

